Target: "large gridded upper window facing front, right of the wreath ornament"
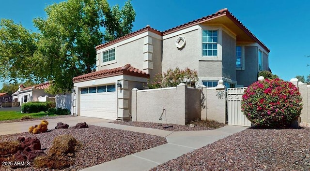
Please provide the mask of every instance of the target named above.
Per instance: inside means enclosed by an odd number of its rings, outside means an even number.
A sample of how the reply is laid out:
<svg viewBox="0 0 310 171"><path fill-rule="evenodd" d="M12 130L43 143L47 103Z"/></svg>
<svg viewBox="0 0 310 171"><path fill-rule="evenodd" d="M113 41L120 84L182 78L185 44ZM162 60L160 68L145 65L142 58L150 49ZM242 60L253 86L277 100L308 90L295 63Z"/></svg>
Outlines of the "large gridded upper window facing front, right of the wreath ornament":
<svg viewBox="0 0 310 171"><path fill-rule="evenodd" d="M217 56L217 30L202 30L202 56Z"/></svg>

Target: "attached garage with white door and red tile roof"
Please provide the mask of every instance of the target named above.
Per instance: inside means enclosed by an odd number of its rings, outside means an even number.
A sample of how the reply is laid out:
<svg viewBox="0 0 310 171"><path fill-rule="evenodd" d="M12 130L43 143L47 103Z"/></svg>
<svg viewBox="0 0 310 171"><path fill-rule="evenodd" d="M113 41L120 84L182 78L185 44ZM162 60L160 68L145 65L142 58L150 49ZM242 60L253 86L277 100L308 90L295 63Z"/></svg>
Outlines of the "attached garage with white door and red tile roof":
<svg viewBox="0 0 310 171"><path fill-rule="evenodd" d="M110 120L131 119L131 89L143 88L149 74L130 64L73 78L73 113Z"/></svg>

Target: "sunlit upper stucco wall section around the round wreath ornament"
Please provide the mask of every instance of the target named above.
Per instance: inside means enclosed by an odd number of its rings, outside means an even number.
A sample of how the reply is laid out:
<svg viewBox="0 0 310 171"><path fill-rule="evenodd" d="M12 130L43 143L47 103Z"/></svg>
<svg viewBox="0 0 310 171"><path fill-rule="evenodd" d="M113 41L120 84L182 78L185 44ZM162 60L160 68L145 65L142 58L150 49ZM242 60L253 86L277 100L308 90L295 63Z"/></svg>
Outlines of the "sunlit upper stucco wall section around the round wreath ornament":
<svg viewBox="0 0 310 171"><path fill-rule="evenodd" d="M175 45L179 37L185 37L186 45L178 49ZM163 40L162 71L179 67L198 71L198 59L201 57L201 36L198 29Z"/></svg>

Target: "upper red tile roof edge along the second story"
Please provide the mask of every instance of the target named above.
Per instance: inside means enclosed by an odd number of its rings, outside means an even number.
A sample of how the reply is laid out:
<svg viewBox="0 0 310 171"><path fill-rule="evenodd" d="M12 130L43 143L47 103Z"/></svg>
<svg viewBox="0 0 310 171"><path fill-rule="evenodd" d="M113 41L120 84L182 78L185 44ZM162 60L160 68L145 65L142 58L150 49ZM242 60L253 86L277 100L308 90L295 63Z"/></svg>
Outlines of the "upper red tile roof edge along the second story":
<svg viewBox="0 0 310 171"><path fill-rule="evenodd" d="M112 45L112 44L115 44L115 43L118 43L118 42L121 42L125 39L128 39L128 38L131 38L131 37L134 37L138 34L141 34L143 32L146 32L146 31L152 31L158 35L168 35L170 33L173 33L175 31L178 31L178 30L181 30L181 29L184 29L184 28L189 28L189 27L192 27L194 25L198 25L198 24L202 24L206 21L211 21L211 20L214 20L214 19L217 19L219 17L222 17L222 16L227 16L231 21L233 21L234 25L236 25L238 28L242 29L250 38L252 38L255 42L259 43L268 53L270 52L270 50L268 49L268 47L263 44L263 42L261 42L247 27L245 27L232 13L230 13L228 11L227 8L224 8L224 9L221 9L219 11L217 11L216 13L214 14L211 14L211 15L207 15L207 16L204 16L202 18L199 18L197 20L193 20L193 21L190 21L188 23L185 23L185 24L182 24L180 26L177 26L177 27L174 27L174 28L170 28L166 31L158 31L154 28L151 28L150 26L146 26L145 28L142 28L138 31L135 31L135 32L132 32L132 33L129 33L127 35L124 35L123 37L120 37L120 38L117 38L113 41L110 41L108 43L104 43L104 44L100 44L98 46L96 46L96 50L99 50L99 49L102 49L106 46L109 46L109 45Z"/></svg>

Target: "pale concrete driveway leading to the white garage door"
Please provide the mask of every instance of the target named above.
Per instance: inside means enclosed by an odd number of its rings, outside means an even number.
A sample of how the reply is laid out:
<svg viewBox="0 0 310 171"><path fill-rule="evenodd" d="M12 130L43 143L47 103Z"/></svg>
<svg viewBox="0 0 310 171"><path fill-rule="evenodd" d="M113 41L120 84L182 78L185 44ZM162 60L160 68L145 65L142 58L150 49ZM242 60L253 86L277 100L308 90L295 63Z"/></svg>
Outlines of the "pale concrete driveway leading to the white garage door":
<svg viewBox="0 0 310 171"><path fill-rule="evenodd" d="M106 119L81 117L81 116L46 119L46 120L48 121L48 126L47 126L48 129L55 128L58 122L66 123L69 125L69 127L72 127L72 126L75 126L79 122L86 122L88 125L100 125L102 123L107 123L111 121L111 120L106 120ZM38 125L40 124L40 122L41 120L35 120L35 121L12 122L12 123L0 124L0 135L27 132L29 127Z"/></svg>

